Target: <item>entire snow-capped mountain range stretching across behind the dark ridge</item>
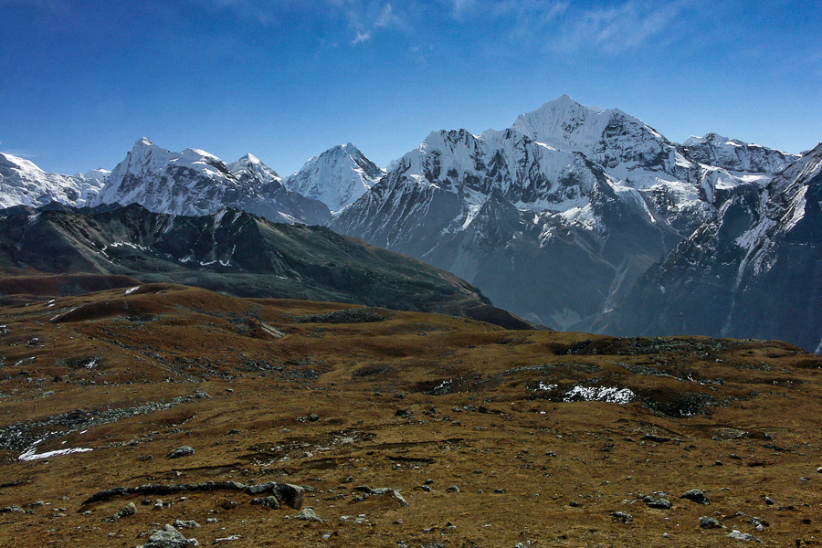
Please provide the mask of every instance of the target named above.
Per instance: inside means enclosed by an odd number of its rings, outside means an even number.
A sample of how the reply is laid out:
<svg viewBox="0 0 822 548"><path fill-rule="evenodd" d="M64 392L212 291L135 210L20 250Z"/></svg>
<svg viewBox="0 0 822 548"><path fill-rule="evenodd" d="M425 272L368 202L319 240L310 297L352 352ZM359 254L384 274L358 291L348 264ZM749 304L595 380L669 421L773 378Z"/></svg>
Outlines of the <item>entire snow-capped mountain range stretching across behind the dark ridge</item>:
<svg viewBox="0 0 822 548"><path fill-rule="evenodd" d="M814 153L800 160L717 133L671 142L624 111L563 96L502 131L432 132L385 170L351 143L280 178L250 154L224 163L204 151L172 153L142 139L108 176L44 174L32 163L16 172L0 167L5 177L0 194L3 205L137 203L184 216L235 207L275 222L325 224L448 270L501 308L554 329L746 336L751 323L743 310L748 309L733 305L739 312L730 314L722 299L711 300L705 289L711 284L703 275L704 298L690 305L696 311L699 301L706 308L694 312L694 321L678 322L680 311L671 302L685 293L669 290L679 287L671 277L679 276L684 285L696 278L670 265L690 265L696 251L689 242L703 241L708 233L721 233L719 248L734 257L762 248L770 251L756 251L756 257L785 254L789 246L779 242L794 237L796 227L817 222L818 214L800 200L794 209L805 208L804 221L791 225L776 222L781 210L774 208L790 202L785 193L813 186L813 177L792 166L813 163ZM14 163L14 157L5 158ZM9 181L12 192L5 190ZM741 216L741 210L748 213ZM754 227L754 220L764 218L774 222L757 220ZM734 234L744 228L743 240L727 239L730 229L719 228L731 225ZM719 249L716 242L705 242L703 249ZM777 288L786 287L781 277L787 270L798 278L814 271L813 242L803 242L805 250L796 251L805 257L802 266L788 268L799 263L780 258L767 276L754 276L760 285L720 276L721 291L782 294ZM724 265L712 252L700 257L702 274ZM754 264L740 261L737 267L745 271ZM649 281L663 271L666 283ZM818 277L806 280L815 284L816 294ZM653 294L660 285L669 297ZM763 307L758 310L768 310ZM817 309L807 313L819 317ZM700 315L722 321L696 321ZM765 315L772 318L770 327L757 328L755 336L817 347L820 330L813 321L800 335L787 318Z"/></svg>

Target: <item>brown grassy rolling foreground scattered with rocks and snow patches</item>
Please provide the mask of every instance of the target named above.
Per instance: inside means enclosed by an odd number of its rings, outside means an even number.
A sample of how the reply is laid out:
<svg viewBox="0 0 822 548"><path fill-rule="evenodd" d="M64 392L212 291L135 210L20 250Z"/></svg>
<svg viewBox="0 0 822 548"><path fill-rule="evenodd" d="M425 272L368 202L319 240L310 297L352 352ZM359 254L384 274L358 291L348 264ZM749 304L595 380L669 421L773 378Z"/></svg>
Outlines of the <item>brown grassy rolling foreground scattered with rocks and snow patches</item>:
<svg viewBox="0 0 822 548"><path fill-rule="evenodd" d="M822 359L781 342L506 331L161 284L14 302L0 546L132 547L175 520L228 547L822 539ZM234 490L83 503L203 481L303 486L322 522ZM680 498L694 489L710 504Z"/></svg>

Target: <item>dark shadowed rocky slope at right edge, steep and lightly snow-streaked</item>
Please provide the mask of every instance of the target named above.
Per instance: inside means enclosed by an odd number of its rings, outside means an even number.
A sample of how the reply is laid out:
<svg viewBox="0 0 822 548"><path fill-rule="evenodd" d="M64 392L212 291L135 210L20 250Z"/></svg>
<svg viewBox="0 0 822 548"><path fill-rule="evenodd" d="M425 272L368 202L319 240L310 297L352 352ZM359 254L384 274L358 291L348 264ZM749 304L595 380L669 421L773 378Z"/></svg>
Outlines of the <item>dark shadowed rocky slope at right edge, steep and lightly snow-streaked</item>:
<svg viewBox="0 0 822 548"><path fill-rule="evenodd" d="M778 338L822 352L822 144L724 202L599 328Z"/></svg>

